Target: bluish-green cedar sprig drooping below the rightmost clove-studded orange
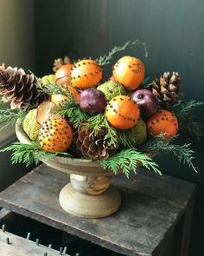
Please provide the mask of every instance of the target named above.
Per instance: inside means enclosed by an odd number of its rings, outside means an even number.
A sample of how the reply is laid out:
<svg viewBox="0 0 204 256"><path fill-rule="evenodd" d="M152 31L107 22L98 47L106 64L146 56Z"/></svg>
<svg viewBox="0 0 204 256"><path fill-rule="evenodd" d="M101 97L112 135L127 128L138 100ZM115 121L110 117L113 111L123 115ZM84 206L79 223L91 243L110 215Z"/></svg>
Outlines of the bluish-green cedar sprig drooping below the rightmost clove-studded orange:
<svg viewBox="0 0 204 256"><path fill-rule="evenodd" d="M163 154L174 154L183 164L188 164L189 168L193 168L194 172L197 173L196 167L194 167L194 150L190 148L190 143L184 145L175 144L176 136L168 142L163 140L164 135L157 135L152 139L145 142L141 149L144 153L163 153Z"/></svg>

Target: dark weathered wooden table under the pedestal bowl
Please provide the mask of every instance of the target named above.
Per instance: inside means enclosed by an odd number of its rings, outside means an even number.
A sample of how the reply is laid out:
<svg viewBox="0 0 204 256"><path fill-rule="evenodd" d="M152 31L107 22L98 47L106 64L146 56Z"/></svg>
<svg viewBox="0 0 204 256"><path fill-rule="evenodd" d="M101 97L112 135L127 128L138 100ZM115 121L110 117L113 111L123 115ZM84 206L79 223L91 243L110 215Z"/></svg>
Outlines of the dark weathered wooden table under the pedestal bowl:
<svg viewBox="0 0 204 256"><path fill-rule="evenodd" d="M68 180L67 174L42 164L0 194L0 207L121 254L188 255L194 184L142 168L130 181L118 175L113 184L122 194L122 207L92 220L61 208L58 195Z"/></svg>

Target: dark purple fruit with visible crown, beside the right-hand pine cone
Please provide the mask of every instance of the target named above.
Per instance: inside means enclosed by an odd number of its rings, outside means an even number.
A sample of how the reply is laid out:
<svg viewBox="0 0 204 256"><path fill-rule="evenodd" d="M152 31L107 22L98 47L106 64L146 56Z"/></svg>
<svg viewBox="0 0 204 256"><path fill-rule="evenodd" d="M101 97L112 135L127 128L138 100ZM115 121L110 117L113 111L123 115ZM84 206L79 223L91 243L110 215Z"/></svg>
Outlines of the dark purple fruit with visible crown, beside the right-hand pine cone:
<svg viewBox="0 0 204 256"><path fill-rule="evenodd" d="M154 115L159 108L159 101L149 89L137 89L131 94L131 99L137 102L143 119Z"/></svg>

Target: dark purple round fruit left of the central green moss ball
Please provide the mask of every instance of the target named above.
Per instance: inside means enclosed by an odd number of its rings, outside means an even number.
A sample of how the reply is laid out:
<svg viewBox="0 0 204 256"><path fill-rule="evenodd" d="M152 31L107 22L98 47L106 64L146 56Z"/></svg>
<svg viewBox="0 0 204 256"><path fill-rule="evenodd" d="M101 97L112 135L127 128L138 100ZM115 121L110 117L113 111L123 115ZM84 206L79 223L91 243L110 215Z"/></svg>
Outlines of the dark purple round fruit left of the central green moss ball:
<svg viewBox="0 0 204 256"><path fill-rule="evenodd" d="M105 106L105 94L99 89L86 89L80 93L80 109L88 115L97 115Z"/></svg>

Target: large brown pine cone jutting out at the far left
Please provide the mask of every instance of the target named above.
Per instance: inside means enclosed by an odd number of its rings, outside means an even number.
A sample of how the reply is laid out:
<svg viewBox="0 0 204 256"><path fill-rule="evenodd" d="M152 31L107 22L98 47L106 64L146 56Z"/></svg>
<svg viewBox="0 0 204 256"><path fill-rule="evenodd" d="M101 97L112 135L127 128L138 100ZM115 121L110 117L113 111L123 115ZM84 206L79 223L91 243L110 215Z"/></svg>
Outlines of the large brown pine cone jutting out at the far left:
<svg viewBox="0 0 204 256"><path fill-rule="evenodd" d="M48 95L38 91L35 76L25 74L23 69L0 66L0 95L3 102L10 102L10 108L28 111L48 99Z"/></svg>

